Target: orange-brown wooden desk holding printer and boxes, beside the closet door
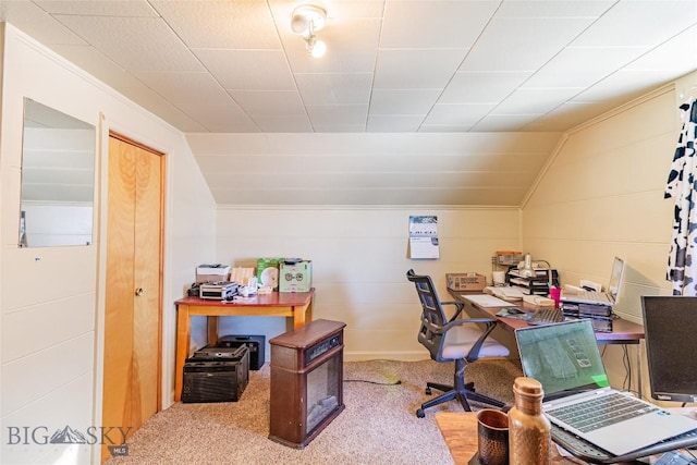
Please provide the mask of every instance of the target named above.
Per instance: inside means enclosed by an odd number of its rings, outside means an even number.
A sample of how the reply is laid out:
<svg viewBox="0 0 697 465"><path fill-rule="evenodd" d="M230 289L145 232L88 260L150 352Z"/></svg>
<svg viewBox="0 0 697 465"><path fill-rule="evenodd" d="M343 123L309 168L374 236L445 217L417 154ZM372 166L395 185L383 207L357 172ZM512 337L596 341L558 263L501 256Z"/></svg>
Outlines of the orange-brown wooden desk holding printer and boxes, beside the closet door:
<svg viewBox="0 0 697 465"><path fill-rule="evenodd" d="M191 343L191 317L208 317L208 343L218 342L218 317L286 317L293 318L297 329L313 319L313 297L309 292L272 292L254 297L241 297L233 302L184 297L176 301L176 360L174 364L174 401L182 397L184 363L188 357Z"/></svg>

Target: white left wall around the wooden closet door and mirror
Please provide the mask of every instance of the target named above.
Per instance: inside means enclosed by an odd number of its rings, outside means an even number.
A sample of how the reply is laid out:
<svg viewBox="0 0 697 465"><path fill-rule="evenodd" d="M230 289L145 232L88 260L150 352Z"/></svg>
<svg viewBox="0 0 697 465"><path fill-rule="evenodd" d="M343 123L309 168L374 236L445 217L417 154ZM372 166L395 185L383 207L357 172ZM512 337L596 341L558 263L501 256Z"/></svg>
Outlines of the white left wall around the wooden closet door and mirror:
<svg viewBox="0 0 697 465"><path fill-rule="evenodd" d="M1 27L1 26L0 26ZM173 401L175 308L198 262L215 258L216 209L183 135L5 25L0 131L0 463L89 463L88 445L39 444L100 426L108 131L166 154L163 404ZM94 124L101 135L95 242L19 248L23 98ZM27 429L25 430L24 427ZM20 428L20 429L11 429ZM33 431L37 432L32 437ZM24 431L29 436L25 437ZM10 439L10 432L19 432ZM13 442L9 444L9 442ZM19 444L15 442L20 442ZM97 450L97 448L95 448Z"/></svg>

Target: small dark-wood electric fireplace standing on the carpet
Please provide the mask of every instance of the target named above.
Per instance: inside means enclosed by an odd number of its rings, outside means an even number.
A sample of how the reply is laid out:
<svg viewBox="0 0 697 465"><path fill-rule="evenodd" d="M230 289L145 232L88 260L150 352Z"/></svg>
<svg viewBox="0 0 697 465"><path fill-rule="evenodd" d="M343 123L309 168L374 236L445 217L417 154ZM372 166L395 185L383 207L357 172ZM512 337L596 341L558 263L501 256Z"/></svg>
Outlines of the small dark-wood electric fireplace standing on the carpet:
<svg viewBox="0 0 697 465"><path fill-rule="evenodd" d="M269 439L303 449L344 409L345 326L320 319L269 341Z"/></svg>

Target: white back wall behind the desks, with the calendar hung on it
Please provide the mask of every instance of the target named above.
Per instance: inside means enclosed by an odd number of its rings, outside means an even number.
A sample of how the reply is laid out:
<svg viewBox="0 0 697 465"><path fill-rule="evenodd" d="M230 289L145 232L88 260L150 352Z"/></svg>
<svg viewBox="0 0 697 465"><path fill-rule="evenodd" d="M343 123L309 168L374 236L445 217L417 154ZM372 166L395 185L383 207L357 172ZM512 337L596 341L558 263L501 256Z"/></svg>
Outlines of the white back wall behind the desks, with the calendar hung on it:
<svg viewBox="0 0 697 465"><path fill-rule="evenodd" d="M438 260L407 258L408 218L436 215ZM430 274L443 299L445 273L491 279L497 249L519 248L517 208L235 208L218 209L218 260L254 267L259 257L313 260L314 319L344 321L346 359L424 359L420 305L406 271ZM232 317L221 334L278 335L281 318ZM268 352L267 352L268 353ZM268 358L268 356L267 356Z"/></svg>

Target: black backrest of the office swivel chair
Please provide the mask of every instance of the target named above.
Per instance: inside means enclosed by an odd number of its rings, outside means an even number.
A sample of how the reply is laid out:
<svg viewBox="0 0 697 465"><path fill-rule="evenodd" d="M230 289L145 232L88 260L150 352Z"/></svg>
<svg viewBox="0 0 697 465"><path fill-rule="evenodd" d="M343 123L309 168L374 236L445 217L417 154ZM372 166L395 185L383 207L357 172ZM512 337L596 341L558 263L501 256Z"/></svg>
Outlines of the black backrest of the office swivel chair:
<svg viewBox="0 0 697 465"><path fill-rule="evenodd" d="M444 333L441 329L448 323L448 318L438 298L438 293L429 276L416 274L414 270L406 272L406 279L416 286L416 293L421 303L421 327L418 331L420 342L435 360L441 360L441 350Z"/></svg>

